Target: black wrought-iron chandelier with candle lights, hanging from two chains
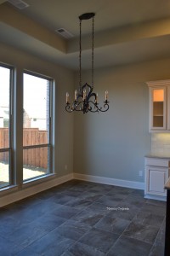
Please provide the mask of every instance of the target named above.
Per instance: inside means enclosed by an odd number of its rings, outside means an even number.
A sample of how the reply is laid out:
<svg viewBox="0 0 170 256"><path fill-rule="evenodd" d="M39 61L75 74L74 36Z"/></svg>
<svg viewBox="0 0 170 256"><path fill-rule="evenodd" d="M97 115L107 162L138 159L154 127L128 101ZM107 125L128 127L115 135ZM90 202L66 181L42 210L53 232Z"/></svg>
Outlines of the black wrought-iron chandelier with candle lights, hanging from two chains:
<svg viewBox="0 0 170 256"><path fill-rule="evenodd" d="M99 106L98 94L94 93L94 13L86 13L79 16L80 20L80 40L79 40L79 90L75 90L74 102L69 102L69 94L66 93L65 110L69 113L73 111L88 112L106 112L109 109L108 91L105 90L105 102L103 107ZM92 19L92 85L82 85L82 20Z"/></svg>

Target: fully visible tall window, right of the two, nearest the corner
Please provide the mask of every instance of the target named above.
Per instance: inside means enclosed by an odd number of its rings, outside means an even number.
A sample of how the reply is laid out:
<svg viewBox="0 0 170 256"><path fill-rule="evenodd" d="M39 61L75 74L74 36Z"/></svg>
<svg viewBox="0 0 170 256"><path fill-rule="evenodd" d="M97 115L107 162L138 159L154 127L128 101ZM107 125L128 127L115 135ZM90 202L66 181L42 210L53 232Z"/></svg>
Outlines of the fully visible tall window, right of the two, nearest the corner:
<svg viewBox="0 0 170 256"><path fill-rule="evenodd" d="M51 170L50 79L24 73L23 180L49 174Z"/></svg>

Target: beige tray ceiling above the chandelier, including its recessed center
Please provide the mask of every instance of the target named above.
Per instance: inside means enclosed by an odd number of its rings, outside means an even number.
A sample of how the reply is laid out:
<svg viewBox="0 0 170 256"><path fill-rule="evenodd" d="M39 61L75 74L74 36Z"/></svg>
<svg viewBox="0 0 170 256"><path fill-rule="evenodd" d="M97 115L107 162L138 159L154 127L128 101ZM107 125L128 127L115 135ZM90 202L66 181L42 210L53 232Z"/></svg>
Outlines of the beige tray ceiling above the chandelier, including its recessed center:
<svg viewBox="0 0 170 256"><path fill-rule="evenodd" d="M20 0L14 0L20 3ZM78 68L78 16L94 12L94 67L170 57L170 0L0 0L0 42ZM56 29L73 35L61 37ZM82 68L91 65L91 20L82 20Z"/></svg>

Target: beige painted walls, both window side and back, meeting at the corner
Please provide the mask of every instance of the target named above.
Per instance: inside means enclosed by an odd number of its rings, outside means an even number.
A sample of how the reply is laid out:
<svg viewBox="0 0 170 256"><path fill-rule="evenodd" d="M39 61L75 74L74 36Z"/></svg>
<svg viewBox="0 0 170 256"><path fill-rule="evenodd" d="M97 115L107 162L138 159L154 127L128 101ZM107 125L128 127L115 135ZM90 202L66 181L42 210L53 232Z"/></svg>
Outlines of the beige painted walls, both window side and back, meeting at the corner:
<svg viewBox="0 0 170 256"><path fill-rule="evenodd" d="M145 82L170 79L169 59L95 70L94 91L99 94L99 102L103 102L105 90L109 90L110 109L107 113L88 114L65 112L65 92L69 91L73 96L74 84L78 86L77 73L74 74L65 67L42 61L36 56L4 44L0 44L0 61L13 65L17 71L15 100L18 104L14 114L20 114L16 115L14 131L16 133L14 150L18 159L14 167L20 182L22 172L20 99L24 69L55 79L54 166L58 177L75 172L94 177L144 182L144 154L148 154L151 149L149 91ZM90 78L90 72L82 73L84 83L90 84ZM65 170L65 165L68 166L68 170ZM139 177L139 171L143 171L143 177ZM45 189L45 185L40 189ZM36 189L32 189L32 193L36 192ZM26 192L23 196L26 196ZM13 200L16 200L15 195ZM5 202L4 198L3 204Z"/></svg>

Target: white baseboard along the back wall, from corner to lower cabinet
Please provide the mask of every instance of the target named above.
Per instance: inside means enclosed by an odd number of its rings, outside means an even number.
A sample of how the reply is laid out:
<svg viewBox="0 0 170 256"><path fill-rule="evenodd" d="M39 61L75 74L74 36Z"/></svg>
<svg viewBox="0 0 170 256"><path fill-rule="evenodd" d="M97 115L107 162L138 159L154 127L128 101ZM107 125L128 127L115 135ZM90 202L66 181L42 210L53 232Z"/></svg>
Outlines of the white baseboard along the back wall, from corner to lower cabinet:
<svg viewBox="0 0 170 256"><path fill-rule="evenodd" d="M94 183L103 183L107 185L115 185L125 188L132 188L132 189L144 189L144 183L133 182L123 179L116 179L111 177L99 177L99 176L92 176L86 174L79 174L73 173L73 177L76 179L94 182Z"/></svg>

